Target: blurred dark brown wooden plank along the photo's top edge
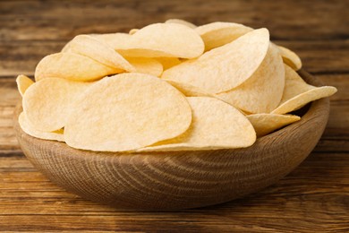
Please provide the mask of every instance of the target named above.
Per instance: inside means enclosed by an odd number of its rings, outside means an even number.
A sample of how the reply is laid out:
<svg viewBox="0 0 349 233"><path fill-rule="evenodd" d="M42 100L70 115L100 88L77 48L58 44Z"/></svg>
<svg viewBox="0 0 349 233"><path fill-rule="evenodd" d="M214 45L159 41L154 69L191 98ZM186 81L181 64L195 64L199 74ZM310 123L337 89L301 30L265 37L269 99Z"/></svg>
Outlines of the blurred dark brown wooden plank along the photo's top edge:
<svg viewBox="0 0 349 233"><path fill-rule="evenodd" d="M223 21L267 27L274 39L345 39L347 8L341 0L1 1L0 38L67 40L81 33L128 31L182 18L199 25Z"/></svg>

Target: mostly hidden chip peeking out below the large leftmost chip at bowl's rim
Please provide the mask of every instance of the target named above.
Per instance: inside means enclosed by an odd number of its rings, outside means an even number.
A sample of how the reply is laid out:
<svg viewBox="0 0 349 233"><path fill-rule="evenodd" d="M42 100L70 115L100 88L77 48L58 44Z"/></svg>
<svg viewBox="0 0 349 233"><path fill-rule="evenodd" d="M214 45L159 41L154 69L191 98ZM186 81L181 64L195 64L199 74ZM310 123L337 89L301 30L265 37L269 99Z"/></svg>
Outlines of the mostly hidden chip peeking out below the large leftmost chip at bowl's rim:
<svg viewBox="0 0 349 233"><path fill-rule="evenodd" d="M26 116L23 112L21 112L18 122L21 125L21 129L26 133L30 134L30 136L46 139L46 140L53 140L58 142L64 142L64 130L60 129L54 132L41 132L37 129L33 128L30 123L28 122Z"/></svg>

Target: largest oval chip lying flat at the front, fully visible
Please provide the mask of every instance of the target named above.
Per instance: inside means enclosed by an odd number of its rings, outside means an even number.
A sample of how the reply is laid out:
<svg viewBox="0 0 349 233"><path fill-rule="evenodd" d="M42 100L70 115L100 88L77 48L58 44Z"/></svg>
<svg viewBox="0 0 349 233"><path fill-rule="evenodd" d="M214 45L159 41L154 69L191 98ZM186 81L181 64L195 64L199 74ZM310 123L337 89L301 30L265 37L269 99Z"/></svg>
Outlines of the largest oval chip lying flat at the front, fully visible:
<svg viewBox="0 0 349 233"><path fill-rule="evenodd" d="M107 77L84 92L64 126L65 142L91 151L132 151L183 134L192 109L167 82L143 73Z"/></svg>

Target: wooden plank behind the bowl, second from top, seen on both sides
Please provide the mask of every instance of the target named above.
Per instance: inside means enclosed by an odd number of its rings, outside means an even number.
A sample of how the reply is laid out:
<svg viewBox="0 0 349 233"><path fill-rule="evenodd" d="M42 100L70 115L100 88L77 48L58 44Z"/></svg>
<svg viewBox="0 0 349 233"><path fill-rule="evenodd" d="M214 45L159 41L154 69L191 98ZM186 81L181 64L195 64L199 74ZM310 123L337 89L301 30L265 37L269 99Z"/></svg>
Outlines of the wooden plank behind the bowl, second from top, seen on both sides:
<svg viewBox="0 0 349 233"><path fill-rule="evenodd" d="M65 42L2 41L0 55L3 59L0 63L0 75L33 75L38 62L48 54L59 52ZM305 70L310 73L349 73L349 40L275 42L298 53Z"/></svg>

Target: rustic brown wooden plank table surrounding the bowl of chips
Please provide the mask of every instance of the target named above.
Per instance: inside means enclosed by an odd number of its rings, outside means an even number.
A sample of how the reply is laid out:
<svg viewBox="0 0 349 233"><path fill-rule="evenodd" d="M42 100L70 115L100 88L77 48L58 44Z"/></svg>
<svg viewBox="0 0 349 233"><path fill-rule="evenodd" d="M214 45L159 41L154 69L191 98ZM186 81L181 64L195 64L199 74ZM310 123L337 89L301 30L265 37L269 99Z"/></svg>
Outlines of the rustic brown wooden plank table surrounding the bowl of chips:
<svg viewBox="0 0 349 233"><path fill-rule="evenodd" d="M348 1L1 1L0 231L349 231ZM76 34L128 31L182 18L267 27L304 68L338 92L328 127L299 168L258 194L189 211L118 211L53 185L23 156L13 132L15 76Z"/></svg>

